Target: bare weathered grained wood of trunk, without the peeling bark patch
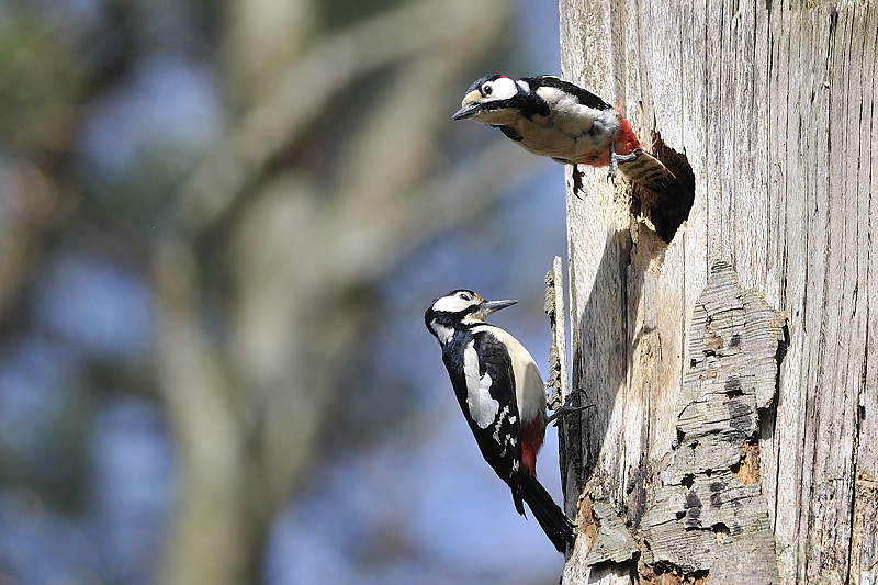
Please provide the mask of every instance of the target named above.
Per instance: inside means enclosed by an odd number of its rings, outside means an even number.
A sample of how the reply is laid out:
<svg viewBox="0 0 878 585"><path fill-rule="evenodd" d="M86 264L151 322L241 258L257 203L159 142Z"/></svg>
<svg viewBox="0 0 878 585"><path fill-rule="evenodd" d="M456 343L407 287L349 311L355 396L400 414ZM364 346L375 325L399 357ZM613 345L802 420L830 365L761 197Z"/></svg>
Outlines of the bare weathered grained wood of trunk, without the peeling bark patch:
<svg viewBox="0 0 878 585"><path fill-rule="evenodd" d="M596 407L566 429L567 499L605 503L637 538L724 260L789 319L754 450L779 582L878 583L878 4L561 0L561 43L564 77L684 154L696 183L671 244L599 170L582 201L569 189L571 371Z"/></svg>

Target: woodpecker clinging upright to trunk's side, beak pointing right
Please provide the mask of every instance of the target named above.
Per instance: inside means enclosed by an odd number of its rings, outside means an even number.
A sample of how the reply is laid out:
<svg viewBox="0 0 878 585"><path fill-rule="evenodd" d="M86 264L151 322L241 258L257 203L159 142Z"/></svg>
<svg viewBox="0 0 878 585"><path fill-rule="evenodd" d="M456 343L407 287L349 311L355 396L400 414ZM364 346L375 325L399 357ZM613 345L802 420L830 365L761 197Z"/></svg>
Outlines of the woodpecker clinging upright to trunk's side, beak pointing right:
<svg viewBox="0 0 878 585"><path fill-rule="evenodd" d="M573 524L537 481L537 453L545 425L545 386L527 349L485 319L516 301L485 301L457 290L434 301L427 329L442 348L442 361L463 416L485 461L513 491L518 514L522 502L559 552L574 543Z"/></svg>

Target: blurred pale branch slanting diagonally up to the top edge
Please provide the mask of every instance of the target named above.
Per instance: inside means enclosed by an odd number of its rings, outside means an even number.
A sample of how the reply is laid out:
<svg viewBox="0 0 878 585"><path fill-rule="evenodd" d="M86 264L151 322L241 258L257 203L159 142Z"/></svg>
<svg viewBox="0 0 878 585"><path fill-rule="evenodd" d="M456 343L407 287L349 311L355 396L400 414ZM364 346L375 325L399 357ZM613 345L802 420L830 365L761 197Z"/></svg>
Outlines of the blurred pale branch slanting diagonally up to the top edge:
<svg viewBox="0 0 878 585"><path fill-rule="evenodd" d="M273 89L233 123L221 146L183 188L176 214L182 233L195 237L216 221L272 157L301 137L330 98L359 76L430 50L450 61L460 63L462 57L472 63L497 38L507 10L496 0L415 0L318 38L282 71L269 71ZM239 44L246 43L238 40ZM408 91L418 93L413 99L430 99L417 86L410 85ZM454 94L459 92L455 88ZM440 94L448 97L447 88Z"/></svg>

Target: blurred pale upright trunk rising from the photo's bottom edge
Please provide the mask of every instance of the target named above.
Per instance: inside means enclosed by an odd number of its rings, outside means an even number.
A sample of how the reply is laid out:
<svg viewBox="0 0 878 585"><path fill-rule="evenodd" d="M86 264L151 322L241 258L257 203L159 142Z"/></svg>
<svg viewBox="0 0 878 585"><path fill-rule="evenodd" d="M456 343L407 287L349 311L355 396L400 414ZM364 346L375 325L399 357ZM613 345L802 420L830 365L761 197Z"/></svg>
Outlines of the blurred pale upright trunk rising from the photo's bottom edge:
<svg viewBox="0 0 878 585"><path fill-rule="evenodd" d="M200 323L201 291L191 250L156 245L153 274L158 297L156 359L181 465L173 538L161 567L170 583L240 583L249 539L245 502L243 429L228 402L230 380L221 352ZM179 550L178 547L183 547Z"/></svg>

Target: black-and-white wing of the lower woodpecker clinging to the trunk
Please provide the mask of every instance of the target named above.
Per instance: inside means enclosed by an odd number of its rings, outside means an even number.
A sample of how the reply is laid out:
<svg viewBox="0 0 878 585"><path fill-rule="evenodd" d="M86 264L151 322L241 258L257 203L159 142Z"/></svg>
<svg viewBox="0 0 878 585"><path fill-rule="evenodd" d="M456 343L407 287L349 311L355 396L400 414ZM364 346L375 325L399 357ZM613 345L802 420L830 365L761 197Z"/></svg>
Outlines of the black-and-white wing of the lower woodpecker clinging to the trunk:
<svg viewBox="0 0 878 585"><path fill-rule="evenodd" d="M509 485L515 507L524 515L521 420L513 362L489 331L477 331L468 341L463 351L443 351L442 359L482 457ZM461 363L455 363L458 359Z"/></svg>

